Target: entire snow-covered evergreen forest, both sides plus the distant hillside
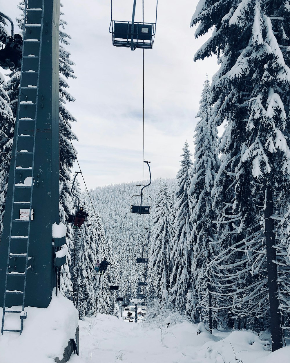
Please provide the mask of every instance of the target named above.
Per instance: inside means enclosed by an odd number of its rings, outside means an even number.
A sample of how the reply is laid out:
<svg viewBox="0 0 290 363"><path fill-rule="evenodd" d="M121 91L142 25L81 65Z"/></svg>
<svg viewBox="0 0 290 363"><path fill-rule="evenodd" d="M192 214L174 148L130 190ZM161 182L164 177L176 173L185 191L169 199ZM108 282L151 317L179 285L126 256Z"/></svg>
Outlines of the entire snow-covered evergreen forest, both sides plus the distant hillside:
<svg viewBox="0 0 290 363"><path fill-rule="evenodd" d="M19 4L23 12L24 1ZM65 9L59 32L59 222L77 208L69 83L76 77ZM19 17L21 25L23 17ZM5 19L0 17L1 33ZM192 323L272 330L273 349L290 339L290 3L200 0L195 36L211 34L195 60L215 55L205 75L193 135L175 179L154 179L148 216L130 213L132 181L74 194L89 216L67 229L60 291L79 317L119 317L117 297L142 293ZM20 70L0 73L0 233L9 176ZM223 132L218 134L218 127ZM190 152L191 145L194 152ZM193 149L193 148L192 148ZM150 202L151 203L151 202ZM106 257L108 273L95 273ZM136 258L148 258L148 265ZM139 282L145 282L140 285ZM110 285L119 286L118 293ZM289 340L288 340L289 341Z"/></svg>

